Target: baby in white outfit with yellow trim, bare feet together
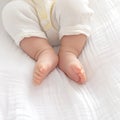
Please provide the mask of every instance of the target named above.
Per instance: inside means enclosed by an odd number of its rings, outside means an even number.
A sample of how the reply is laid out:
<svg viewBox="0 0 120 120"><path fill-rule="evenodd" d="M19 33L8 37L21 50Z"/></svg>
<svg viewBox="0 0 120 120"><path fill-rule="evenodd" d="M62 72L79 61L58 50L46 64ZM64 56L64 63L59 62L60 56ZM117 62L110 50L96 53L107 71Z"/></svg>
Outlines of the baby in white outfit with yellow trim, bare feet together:
<svg viewBox="0 0 120 120"><path fill-rule="evenodd" d="M87 0L12 0L2 12L5 30L36 61L33 80L58 67L77 83L86 81L78 59L90 35ZM59 45L58 55L53 46Z"/></svg>

